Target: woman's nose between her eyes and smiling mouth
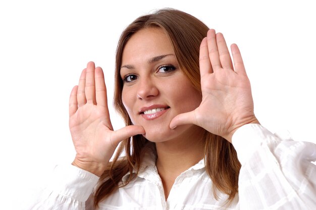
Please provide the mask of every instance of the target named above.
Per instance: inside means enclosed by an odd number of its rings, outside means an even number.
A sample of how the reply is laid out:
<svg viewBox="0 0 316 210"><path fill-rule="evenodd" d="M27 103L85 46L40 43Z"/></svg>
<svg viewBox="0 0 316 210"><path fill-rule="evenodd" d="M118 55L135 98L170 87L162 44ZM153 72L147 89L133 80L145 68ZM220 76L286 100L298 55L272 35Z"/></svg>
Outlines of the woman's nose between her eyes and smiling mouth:
<svg viewBox="0 0 316 210"><path fill-rule="evenodd" d="M153 79L146 77L138 80L137 98L150 100L159 94L159 90Z"/></svg>

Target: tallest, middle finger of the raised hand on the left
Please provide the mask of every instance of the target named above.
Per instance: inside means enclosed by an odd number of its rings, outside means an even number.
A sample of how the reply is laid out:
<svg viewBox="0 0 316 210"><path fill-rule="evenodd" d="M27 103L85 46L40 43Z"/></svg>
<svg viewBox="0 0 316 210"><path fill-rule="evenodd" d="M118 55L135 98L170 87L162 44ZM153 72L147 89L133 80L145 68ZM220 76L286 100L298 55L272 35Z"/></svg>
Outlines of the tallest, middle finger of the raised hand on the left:
<svg viewBox="0 0 316 210"><path fill-rule="evenodd" d="M93 62L89 62L87 64L87 72L86 72L86 83L85 83L85 94L87 103L95 104L95 81L94 81L94 70L95 66Z"/></svg>

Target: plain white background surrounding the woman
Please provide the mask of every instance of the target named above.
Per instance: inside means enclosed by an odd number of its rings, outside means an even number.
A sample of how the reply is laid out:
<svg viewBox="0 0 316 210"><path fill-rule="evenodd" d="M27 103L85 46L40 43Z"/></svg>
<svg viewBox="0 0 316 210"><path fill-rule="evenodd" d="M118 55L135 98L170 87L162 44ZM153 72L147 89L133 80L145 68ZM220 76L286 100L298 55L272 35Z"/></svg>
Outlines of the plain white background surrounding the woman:
<svg viewBox="0 0 316 210"><path fill-rule="evenodd" d="M72 162L68 98L87 62L103 68L113 126L123 126L111 103L116 44L154 9L187 12L237 43L260 123L316 143L313 1L109 2L0 3L0 208L14 209L56 164Z"/></svg>

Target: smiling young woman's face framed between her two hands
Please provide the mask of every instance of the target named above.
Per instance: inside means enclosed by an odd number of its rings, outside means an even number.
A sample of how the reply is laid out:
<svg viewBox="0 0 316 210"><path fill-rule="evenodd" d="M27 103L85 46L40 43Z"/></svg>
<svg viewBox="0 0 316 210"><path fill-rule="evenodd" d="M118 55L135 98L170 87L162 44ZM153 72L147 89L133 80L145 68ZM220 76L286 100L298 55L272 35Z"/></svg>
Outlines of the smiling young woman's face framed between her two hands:
<svg viewBox="0 0 316 210"><path fill-rule="evenodd" d="M161 142L200 132L194 125L169 128L175 116L194 110L202 98L179 69L172 44L162 29L142 29L130 38L123 51L120 75L124 106L132 123L145 129L145 138Z"/></svg>

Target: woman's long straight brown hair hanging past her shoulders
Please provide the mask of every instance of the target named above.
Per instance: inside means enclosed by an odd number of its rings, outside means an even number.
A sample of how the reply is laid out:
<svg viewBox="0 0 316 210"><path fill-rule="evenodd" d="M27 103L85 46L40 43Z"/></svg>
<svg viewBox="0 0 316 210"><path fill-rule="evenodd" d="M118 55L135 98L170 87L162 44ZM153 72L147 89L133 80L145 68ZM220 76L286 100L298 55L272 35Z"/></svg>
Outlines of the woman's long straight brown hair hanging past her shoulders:
<svg viewBox="0 0 316 210"><path fill-rule="evenodd" d="M193 86L201 91L199 45L206 36L208 27L197 18L174 9L162 9L141 16L123 31L116 53L114 105L126 125L132 125L132 122L122 102L123 81L120 77L120 68L123 49L134 33L148 27L159 27L167 34L173 45L179 68ZM238 175L241 167L237 153L232 144L221 136L205 130L204 138L204 162L206 172L214 184L213 193L217 198L217 190L220 190L229 195L228 201L232 201L238 192ZM111 166L100 178L100 185L94 197L95 206L122 186L120 183L125 174L129 172L132 175L134 170L137 175L142 161L141 150L147 141L142 135L136 135L121 142ZM125 152L124 158L119 159L123 152ZM136 175L129 176L123 186Z"/></svg>

